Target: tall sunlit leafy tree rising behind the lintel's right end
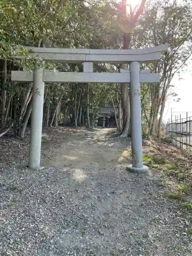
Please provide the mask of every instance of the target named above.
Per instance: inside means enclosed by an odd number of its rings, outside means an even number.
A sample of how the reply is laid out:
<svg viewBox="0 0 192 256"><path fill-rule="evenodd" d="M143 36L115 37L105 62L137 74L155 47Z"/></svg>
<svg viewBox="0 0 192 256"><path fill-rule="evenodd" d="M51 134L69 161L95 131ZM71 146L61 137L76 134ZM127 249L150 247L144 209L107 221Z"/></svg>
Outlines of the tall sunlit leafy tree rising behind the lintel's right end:
<svg viewBox="0 0 192 256"><path fill-rule="evenodd" d="M154 134L158 123L158 137L161 136L165 102L169 91L174 87L172 79L185 68L192 53L191 10L191 5L186 2L159 0L153 6L147 5L140 19L137 47L169 45L161 61L149 67L151 71L161 74L160 83L150 87L151 135Z"/></svg>

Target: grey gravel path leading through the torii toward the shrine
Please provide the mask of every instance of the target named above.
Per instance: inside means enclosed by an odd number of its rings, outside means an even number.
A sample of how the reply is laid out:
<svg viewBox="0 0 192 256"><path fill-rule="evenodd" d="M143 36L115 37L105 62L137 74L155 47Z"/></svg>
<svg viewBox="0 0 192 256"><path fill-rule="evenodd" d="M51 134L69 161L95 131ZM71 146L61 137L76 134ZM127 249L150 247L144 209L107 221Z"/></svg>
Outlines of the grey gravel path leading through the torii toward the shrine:
<svg viewBox="0 0 192 256"><path fill-rule="evenodd" d="M110 131L50 144L45 169L0 173L1 256L191 256L179 202L155 175L127 173L127 141Z"/></svg>

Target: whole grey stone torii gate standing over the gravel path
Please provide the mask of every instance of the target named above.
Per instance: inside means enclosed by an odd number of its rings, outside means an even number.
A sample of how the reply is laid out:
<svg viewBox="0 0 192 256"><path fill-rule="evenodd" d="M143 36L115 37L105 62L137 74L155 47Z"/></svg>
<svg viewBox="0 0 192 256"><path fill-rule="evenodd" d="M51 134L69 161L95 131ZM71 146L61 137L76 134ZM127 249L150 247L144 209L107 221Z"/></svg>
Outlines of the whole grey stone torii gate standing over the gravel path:
<svg viewBox="0 0 192 256"><path fill-rule="evenodd" d="M167 51L167 45L134 50L92 50L92 49L60 49L35 48L31 58L40 57L44 61L61 61L65 63L83 63L83 72L57 72L35 67L34 71L12 71L12 81L33 81L31 136L29 151L29 167L40 168L42 115L44 107L45 82L79 82L79 83L131 83L131 140L132 172L144 172L148 169L142 163L142 129L141 129L141 99L140 83L158 83L160 74L140 71L140 63L159 61L161 53ZM13 56L25 58L25 56ZM130 70L120 70L120 73L94 73L93 63L129 63Z"/></svg>

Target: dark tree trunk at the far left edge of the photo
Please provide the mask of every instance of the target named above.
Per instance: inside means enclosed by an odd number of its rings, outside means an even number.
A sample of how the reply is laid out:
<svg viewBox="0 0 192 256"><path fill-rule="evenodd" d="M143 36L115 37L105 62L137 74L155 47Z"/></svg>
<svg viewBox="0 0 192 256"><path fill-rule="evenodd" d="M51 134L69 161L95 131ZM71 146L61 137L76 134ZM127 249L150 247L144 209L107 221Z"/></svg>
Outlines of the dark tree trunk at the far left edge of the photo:
<svg viewBox="0 0 192 256"><path fill-rule="evenodd" d="M2 70L1 125L5 124L6 82L7 82L7 59L4 59L3 60L3 70Z"/></svg>

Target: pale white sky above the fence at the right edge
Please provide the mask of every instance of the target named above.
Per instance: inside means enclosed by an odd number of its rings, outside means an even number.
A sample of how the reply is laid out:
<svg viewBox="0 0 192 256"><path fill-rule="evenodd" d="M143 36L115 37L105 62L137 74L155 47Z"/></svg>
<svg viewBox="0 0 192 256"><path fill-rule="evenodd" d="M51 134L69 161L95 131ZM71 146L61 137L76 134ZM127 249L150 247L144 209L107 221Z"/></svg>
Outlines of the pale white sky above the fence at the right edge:
<svg viewBox="0 0 192 256"><path fill-rule="evenodd" d="M172 80L172 84L175 86L173 91L178 94L176 98L181 98L179 102L174 102L173 98L167 99L165 105L165 111L163 116L163 121L167 122L168 118L171 117L171 109L173 113L173 118L175 115L181 114L181 118L186 117L186 112L188 112L188 117L192 117L192 61L188 63L186 72L181 72L180 76L183 78L179 80L179 77L175 75Z"/></svg>

